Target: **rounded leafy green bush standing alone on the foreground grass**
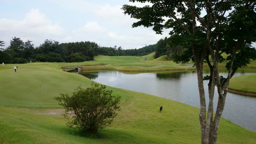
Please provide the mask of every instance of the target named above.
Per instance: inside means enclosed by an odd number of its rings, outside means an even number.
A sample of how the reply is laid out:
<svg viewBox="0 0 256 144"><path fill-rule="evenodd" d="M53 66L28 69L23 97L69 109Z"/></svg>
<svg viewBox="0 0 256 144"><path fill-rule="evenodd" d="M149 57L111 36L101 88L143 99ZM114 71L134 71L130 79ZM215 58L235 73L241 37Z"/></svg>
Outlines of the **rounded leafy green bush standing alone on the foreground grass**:
<svg viewBox="0 0 256 144"><path fill-rule="evenodd" d="M91 87L75 89L72 96L61 94L54 99L65 108L67 126L85 133L96 134L99 129L111 126L120 111L120 96L112 96L105 85L92 83Z"/></svg>

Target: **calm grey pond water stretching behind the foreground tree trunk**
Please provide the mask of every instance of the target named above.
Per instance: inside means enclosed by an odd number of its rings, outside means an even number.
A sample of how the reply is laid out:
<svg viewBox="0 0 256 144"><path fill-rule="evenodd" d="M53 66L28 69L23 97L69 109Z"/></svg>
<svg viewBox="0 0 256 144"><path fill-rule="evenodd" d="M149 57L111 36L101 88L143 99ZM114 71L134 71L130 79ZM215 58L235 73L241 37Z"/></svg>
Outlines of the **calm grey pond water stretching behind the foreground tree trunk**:
<svg viewBox="0 0 256 144"><path fill-rule="evenodd" d="M101 84L160 96L200 107L196 72L123 73L106 71L81 72L80 74ZM239 72L235 76L245 74L255 73ZM226 73L221 73L221 75L226 76ZM207 90L207 82L205 82L205 90ZM218 93L216 91L214 99L216 105L217 100ZM222 116L233 123L256 132L256 98L228 93Z"/></svg>

